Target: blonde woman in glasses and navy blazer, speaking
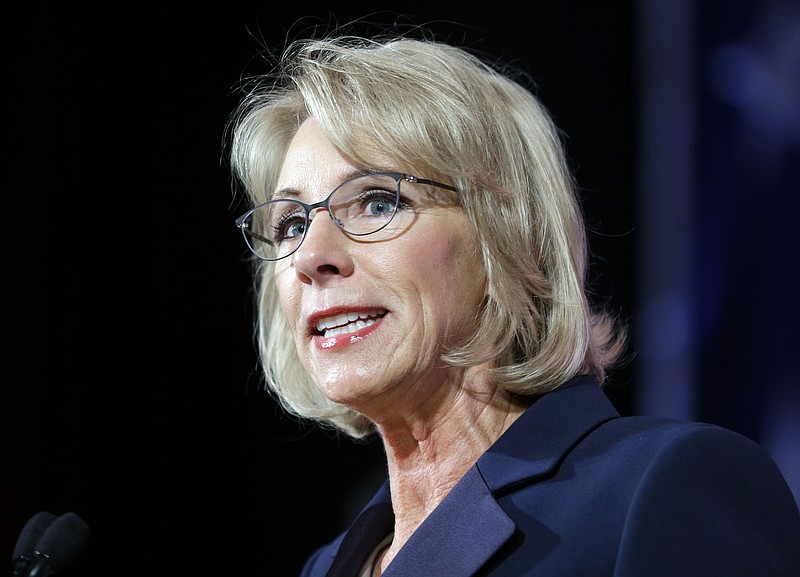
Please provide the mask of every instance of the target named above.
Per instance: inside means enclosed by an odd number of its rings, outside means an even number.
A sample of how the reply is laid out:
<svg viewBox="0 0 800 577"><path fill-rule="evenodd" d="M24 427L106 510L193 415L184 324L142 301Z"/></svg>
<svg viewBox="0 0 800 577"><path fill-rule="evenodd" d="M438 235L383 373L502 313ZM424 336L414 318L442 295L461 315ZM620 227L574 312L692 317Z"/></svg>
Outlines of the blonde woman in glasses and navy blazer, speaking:
<svg viewBox="0 0 800 577"><path fill-rule="evenodd" d="M380 436L388 481L303 575L797 575L774 463L621 418L557 129L510 75L411 39L298 43L232 118L266 382Z"/></svg>

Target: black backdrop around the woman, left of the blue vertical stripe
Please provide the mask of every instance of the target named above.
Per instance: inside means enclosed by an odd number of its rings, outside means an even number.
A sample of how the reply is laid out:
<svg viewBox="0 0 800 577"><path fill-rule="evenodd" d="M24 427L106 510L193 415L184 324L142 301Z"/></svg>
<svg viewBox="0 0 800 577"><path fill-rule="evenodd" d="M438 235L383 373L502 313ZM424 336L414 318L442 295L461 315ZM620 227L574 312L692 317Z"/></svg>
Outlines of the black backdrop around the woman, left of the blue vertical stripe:
<svg viewBox="0 0 800 577"><path fill-rule="evenodd" d="M512 61L567 136L600 300L632 317L631 3L31 3L5 20L0 538L78 513L61 574L295 575L382 474L259 387L222 141L254 55L366 17ZM302 24L295 24L305 18ZM363 29L363 28L362 28ZM635 343L633 345L635 350ZM636 359L609 389L636 399Z"/></svg>

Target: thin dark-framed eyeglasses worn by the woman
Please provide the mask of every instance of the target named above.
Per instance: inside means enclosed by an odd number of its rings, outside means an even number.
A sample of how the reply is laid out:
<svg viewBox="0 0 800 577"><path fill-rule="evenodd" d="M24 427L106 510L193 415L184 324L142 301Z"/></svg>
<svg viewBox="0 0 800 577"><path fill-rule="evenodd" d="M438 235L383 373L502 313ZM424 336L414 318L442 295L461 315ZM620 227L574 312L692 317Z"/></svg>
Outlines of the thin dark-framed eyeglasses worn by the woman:
<svg viewBox="0 0 800 577"><path fill-rule="evenodd" d="M383 231L382 238L391 238L413 218L406 198L413 192L409 184L458 192L453 186L401 172L371 172L344 181L328 198L314 204L291 198L265 202L237 218L236 226L253 254L268 261L286 258L300 248L312 220L311 212L318 208L327 210L345 234L366 236Z"/></svg>

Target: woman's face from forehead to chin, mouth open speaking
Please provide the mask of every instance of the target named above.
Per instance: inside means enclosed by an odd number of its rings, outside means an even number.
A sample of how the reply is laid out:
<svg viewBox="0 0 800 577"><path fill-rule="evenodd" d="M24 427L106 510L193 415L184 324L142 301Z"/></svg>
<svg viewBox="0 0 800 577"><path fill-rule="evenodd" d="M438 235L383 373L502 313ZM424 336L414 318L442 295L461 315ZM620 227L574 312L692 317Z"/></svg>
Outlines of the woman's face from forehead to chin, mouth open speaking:
<svg viewBox="0 0 800 577"><path fill-rule="evenodd" d="M275 198L292 191L318 202L356 171L312 118L291 143ZM425 203L425 187L408 186L419 187L410 192L420 202L398 209L414 211L400 234L349 237L321 209L297 252L275 267L304 366L328 398L373 419L458 394L440 356L472 334L485 294L463 211ZM344 326L326 334L325 324Z"/></svg>

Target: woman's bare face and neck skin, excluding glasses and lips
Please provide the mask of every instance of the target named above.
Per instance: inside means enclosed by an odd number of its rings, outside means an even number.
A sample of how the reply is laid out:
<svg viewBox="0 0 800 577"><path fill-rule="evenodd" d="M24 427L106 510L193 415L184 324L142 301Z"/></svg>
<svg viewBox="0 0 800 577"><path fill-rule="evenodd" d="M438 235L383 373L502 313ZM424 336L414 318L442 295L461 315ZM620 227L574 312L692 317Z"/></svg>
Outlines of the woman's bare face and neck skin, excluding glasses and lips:
<svg viewBox="0 0 800 577"><path fill-rule="evenodd" d="M310 119L287 151L279 188L315 202L353 169ZM315 218L297 251L275 267L303 366L329 399L372 420L383 440L396 521L381 568L526 408L490 384L488 364L442 361L475 331L487 290L481 262L463 210L426 201L412 225L379 242ZM309 316L336 307L387 314L355 344L320 349Z"/></svg>

